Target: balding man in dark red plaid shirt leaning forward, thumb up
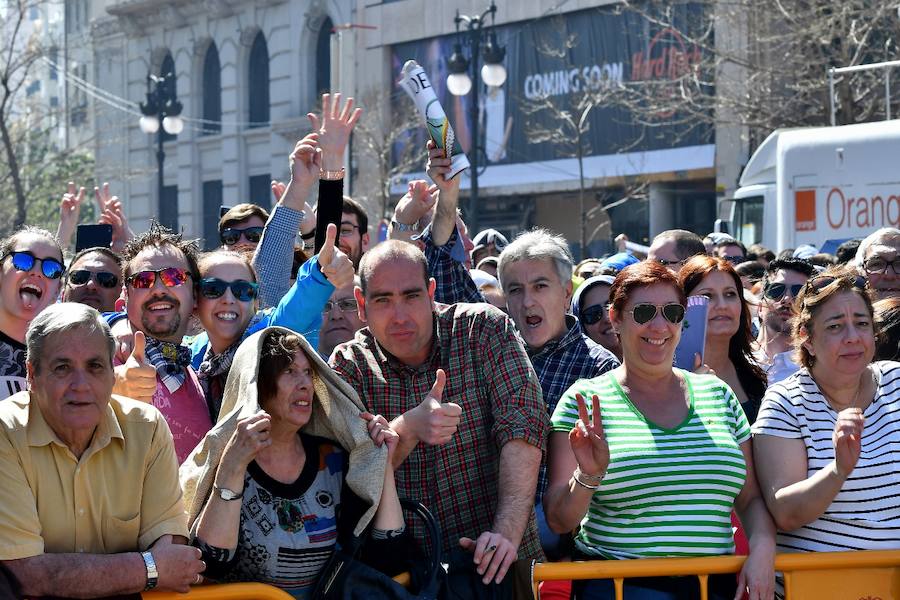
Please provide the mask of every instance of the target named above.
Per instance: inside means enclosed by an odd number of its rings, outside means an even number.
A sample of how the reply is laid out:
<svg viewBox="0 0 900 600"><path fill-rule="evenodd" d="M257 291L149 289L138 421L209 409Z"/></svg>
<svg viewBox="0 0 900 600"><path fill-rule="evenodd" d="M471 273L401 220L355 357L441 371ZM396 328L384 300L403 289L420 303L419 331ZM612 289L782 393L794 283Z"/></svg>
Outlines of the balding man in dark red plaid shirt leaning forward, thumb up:
<svg viewBox="0 0 900 600"><path fill-rule="evenodd" d="M445 552L462 546L500 582L517 558L542 557L534 491L549 418L525 350L496 308L436 305L412 244L379 244L359 276L368 327L331 364L400 434L400 496L438 515Z"/></svg>

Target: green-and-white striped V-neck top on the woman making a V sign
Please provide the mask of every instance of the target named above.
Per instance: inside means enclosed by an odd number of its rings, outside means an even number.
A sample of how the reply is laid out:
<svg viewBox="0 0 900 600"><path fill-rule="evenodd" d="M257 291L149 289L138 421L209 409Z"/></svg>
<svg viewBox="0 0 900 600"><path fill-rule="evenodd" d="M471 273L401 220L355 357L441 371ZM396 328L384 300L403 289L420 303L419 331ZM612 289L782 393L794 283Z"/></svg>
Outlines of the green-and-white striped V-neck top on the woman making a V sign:
<svg viewBox="0 0 900 600"><path fill-rule="evenodd" d="M712 375L678 370L690 409L672 429L648 421L612 373L576 381L560 398L553 431L578 420L575 394L600 398L610 464L576 536L578 548L608 559L734 552L731 509L747 476L739 444L750 425L734 393Z"/></svg>

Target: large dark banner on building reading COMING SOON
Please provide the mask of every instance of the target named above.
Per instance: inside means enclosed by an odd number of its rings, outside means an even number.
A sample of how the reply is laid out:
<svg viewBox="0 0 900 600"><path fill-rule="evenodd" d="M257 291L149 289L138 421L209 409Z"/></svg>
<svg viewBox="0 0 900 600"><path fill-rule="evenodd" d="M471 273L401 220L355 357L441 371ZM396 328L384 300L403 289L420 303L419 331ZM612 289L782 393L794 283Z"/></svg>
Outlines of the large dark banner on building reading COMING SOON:
<svg viewBox="0 0 900 600"><path fill-rule="evenodd" d="M638 111L636 118L637 113L614 101L612 94L603 94L641 82L652 83L663 98L677 94L678 80L701 68L703 50L680 34L704 25L701 5L670 9L675 10L674 28L620 8L602 7L494 29L506 48L506 83L494 88L485 86L480 77L473 82L481 86L482 141L477 162L479 167L488 166L483 185L577 178L571 145L539 142L533 131L536 125L558 129L554 110L573 110L585 89L601 92L587 131L589 177L713 166L711 125L685 123L681 115L664 110ZM392 72L399 74L409 59L422 65L471 158L472 93L454 96L447 90L447 60L456 41L464 44L468 55L466 39L463 33L395 45ZM548 99L556 109L536 111ZM424 145L424 132L417 135L409 143Z"/></svg>

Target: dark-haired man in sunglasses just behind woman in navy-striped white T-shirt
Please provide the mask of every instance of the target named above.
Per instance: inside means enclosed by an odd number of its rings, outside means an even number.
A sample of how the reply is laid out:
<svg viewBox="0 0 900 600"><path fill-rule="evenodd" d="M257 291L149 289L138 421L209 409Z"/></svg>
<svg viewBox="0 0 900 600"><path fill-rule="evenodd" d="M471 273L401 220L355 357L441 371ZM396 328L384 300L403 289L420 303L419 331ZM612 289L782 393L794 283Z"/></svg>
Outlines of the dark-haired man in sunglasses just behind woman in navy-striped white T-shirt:
<svg viewBox="0 0 900 600"><path fill-rule="evenodd" d="M768 376L769 385L786 379L800 368L793 359L791 305L815 275L815 267L800 259L773 260L766 267L759 301L759 345L755 358Z"/></svg>

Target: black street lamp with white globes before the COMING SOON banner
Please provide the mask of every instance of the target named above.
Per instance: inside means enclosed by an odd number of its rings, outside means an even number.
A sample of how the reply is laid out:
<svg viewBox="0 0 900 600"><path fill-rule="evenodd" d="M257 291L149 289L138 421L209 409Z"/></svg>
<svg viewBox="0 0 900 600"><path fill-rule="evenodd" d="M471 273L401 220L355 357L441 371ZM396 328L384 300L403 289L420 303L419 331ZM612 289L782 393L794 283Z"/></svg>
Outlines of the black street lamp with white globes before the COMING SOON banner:
<svg viewBox="0 0 900 600"><path fill-rule="evenodd" d="M489 86L499 87L506 81L506 69L503 67L503 58L506 50L497 43L497 34L491 30L494 23L494 15L497 6L491 0L491 5L481 15L461 15L456 11L453 22L456 23L456 31L459 33L460 25L465 26L468 32L469 56L463 55L462 44L456 42L453 45L453 53L447 61L450 75L447 76L447 89L455 96L465 96L472 91L472 148L469 155L471 163L472 187L469 191L469 228L478 231L478 160L480 140L480 123L478 122L478 64L479 55L483 54L484 66L481 67L481 79ZM487 16L491 16L491 26L485 30ZM487 35L487 42L482 50L482 36ZM471 67L471 77L469 76Z"/></svg>

